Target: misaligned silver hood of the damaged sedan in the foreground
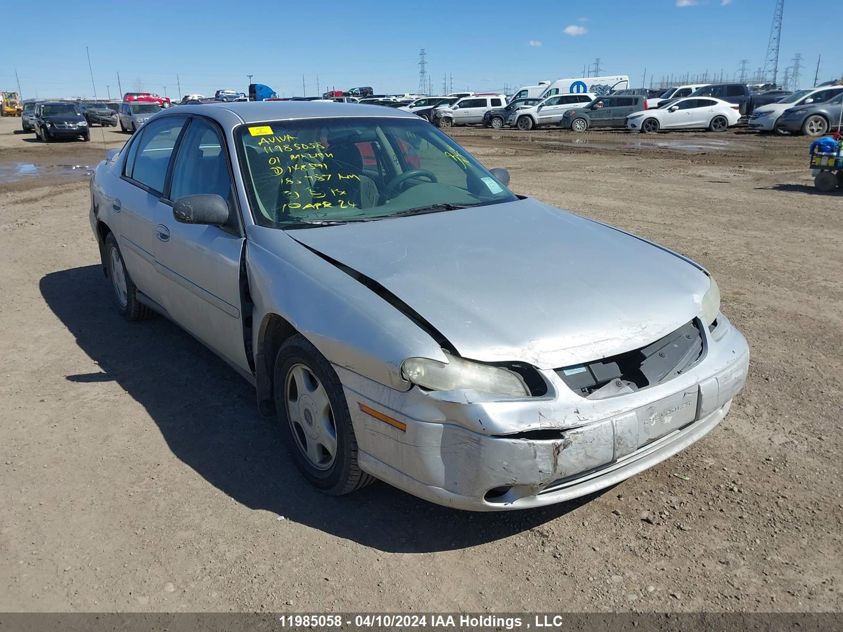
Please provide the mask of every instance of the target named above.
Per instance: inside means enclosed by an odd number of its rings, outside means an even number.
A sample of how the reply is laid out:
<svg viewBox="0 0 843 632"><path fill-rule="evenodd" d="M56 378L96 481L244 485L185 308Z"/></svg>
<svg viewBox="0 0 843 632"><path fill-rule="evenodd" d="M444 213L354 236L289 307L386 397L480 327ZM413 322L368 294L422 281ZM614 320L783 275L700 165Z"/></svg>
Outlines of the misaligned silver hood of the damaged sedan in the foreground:
<svg viewBox="0 0 843 632"><path fill-rule="evenodd" d="M701 268L531 199L287 235L378 281L483 362L550 369L658 340L701 311Z"/></svg>

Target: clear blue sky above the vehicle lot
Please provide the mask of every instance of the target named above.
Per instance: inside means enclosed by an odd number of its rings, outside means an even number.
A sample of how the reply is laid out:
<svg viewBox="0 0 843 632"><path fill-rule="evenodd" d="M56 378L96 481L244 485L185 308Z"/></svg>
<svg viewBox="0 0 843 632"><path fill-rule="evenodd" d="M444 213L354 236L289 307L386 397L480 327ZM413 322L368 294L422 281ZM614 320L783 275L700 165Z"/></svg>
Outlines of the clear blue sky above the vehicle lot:
<svg viewBox="0 0 843 632"><path fill-rule="evenodd" d="M843 48L828 24L816 24L787 0L780 78L802 53L802 87L843 74ZM839 2L839 0L836 0ZM554 0L536 2L300 3L170 0L142 2L8 3L7 27L19 26L18 46L6 46L0 88L25 98L91 96L85 56L91 51L99 98L142 88L170 98L245 91L254 76L278 94L371 85L376 92L416 92L418 53L427 50L434 93L443 75L454 90L502 90L540 79L579 77L601 58L602 74L627 74L640 86L647 69L664 76L723 72L740 61L764 65L774 0ZM94 8L96 6L97 8ZM831 5L829 5L831 6ZM37 7L37 10L36 10ZM49 16L38 19L38 16ZM7 41L10 40L7 33ZM11 38L14 39L14 38ZM108 86L108 88L106 88Z"/></svg>

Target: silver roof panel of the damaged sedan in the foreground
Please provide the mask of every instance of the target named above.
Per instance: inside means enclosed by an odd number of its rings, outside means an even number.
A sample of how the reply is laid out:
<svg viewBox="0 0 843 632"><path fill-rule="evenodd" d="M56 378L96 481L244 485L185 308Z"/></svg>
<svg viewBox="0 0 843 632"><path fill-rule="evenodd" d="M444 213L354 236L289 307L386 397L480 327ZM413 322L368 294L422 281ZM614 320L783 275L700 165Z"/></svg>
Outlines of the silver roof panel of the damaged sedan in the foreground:
<svg viewBox="0 0 843 632"><path fill-rule="evenodd" d="M163 110L164 113L193 113L210 116L228 126L260 121L285 121L294 119L348 118L403 118L412 121L417 116L411 112L380 105L336 103L335 101L241 101L209 104L185 104Z"/></svg>

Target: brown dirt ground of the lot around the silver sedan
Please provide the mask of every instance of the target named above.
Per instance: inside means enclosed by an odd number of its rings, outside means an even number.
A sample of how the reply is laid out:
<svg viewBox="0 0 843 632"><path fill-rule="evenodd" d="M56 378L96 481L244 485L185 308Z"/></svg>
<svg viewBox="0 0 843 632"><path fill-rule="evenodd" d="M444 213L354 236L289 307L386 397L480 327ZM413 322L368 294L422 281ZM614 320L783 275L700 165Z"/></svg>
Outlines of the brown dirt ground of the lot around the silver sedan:
<svg viewBox="0 0 843 632"><path fill-rule="evenodd" d="M706 265L752 351L684 453L474 514L311 490L249 384L111 307L84 168L126 135L46 145L19 125L0 120L0 609L843 609L843 195L813 189L807 139L452 132L516 192Z"/></svg>

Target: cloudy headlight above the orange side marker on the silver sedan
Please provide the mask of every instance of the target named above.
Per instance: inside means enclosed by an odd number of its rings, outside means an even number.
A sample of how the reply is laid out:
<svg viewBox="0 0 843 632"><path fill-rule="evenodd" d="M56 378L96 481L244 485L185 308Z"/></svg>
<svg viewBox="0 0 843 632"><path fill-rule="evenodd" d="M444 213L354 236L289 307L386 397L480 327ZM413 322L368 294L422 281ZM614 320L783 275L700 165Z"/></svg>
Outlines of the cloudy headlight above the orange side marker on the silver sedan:
<svg viewBox="0 0 843 632"><path fill-rule="evenodd" d="M434 391L471 388L484 393L514 397L528 397L530 394L524 378L518 373L445 355L448 356L447 364L424 357L407 358L401 364L401 372L417 386Z"/></svg>

